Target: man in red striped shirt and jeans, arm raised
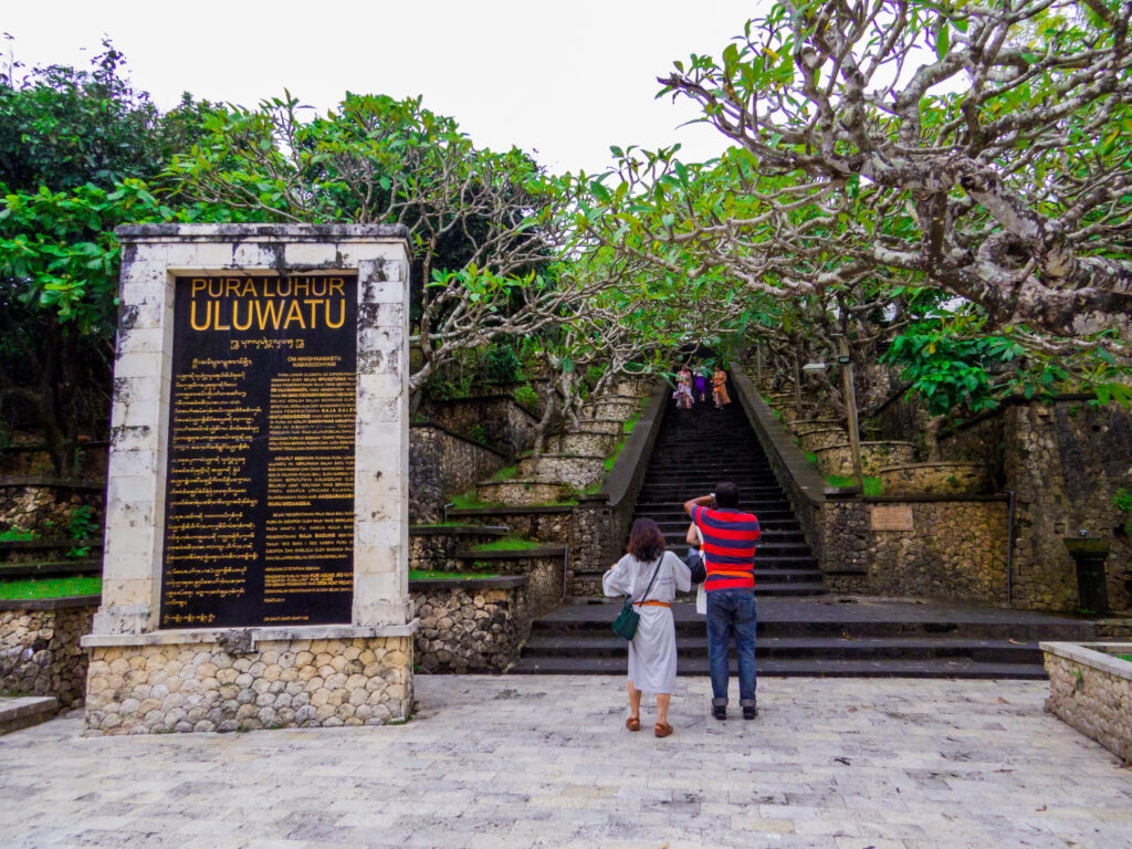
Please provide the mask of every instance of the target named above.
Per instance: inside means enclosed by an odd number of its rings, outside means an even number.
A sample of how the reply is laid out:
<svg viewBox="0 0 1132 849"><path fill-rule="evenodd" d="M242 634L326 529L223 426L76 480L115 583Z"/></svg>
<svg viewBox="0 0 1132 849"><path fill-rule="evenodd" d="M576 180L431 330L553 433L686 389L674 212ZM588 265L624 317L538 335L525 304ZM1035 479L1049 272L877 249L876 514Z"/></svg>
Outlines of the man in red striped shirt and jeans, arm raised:
<svg viewBox="0 0 1132 849"><path fill-rule="evenodd" d="M703 537L707 580L707 669L712 715L727 719L728 643L739 658L739 705L744 719L758 715L755 701L755 547L758 518L739 509L739 488L720 483L710 496L684 503Z"/></svg>

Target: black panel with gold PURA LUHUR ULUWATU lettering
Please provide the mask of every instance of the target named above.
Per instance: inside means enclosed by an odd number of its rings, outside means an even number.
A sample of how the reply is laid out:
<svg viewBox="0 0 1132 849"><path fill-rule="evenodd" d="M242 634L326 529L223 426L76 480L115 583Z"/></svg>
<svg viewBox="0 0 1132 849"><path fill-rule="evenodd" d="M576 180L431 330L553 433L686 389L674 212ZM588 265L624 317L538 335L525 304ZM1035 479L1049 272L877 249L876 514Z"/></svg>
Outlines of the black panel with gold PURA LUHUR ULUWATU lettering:
<svg viewBox="0 0 1132 849"><path fill-rule="evenodd" d="M163 628L350 621L357 292L177 278Z"/></svg>

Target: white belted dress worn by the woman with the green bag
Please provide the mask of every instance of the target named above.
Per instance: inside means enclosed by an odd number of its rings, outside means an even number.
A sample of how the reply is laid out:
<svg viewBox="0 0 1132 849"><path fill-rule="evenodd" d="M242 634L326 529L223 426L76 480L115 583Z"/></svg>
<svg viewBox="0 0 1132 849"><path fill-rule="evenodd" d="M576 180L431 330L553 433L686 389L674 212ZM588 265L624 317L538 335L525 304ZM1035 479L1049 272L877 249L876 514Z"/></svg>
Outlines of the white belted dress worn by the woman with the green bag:
<svg viewBox="0 0 1132 849"><path fill-rule="evenodd" d="M692 573L687 564L671 551L666 551L657 581L644 597L657 561L641 563L633 555L625 555L602 578L606 595L632 595L634 601L664 601L671 603L676 591L692 589ZM671 693L676 686L676 624L672 609L658 604L636 607L641 624L629 643L629 680L644 693Z"/></svg>

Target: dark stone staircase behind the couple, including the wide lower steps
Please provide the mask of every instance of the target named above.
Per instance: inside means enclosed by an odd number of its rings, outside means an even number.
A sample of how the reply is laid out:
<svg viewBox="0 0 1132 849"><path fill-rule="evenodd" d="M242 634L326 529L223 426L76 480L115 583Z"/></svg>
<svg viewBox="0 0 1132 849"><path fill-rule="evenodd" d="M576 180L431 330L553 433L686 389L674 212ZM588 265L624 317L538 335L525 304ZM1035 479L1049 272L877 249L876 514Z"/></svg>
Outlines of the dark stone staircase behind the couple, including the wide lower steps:
<svg viewBox="0 0 1132 849"><path fill-rule="evenodd" d="M762 525L755 558L760 675L1040 679L1045 669L1039 641L1096 635L1091 623L1069 617L830 595L738 403L722 411L706 405L668 411L636 516L654 518L668 547L683 556L688 528L683 503L710 492L722 480L739 487L741 506L754 512ZM535 620L511 671L624 675L626 644L609 628L619 608L619 599L575 598ZM703 617L689 600L674 604L672 614L679 674L706 675Z"/></svg>

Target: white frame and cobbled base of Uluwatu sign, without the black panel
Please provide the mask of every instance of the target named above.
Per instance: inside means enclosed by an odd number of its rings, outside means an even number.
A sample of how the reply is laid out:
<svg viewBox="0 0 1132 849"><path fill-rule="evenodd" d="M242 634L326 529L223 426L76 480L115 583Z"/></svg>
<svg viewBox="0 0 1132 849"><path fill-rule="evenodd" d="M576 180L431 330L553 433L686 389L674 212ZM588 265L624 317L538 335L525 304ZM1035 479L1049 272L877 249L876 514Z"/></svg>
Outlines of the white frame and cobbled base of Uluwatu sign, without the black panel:
<svg viewBox="0 0 1132 849"><path fill-rule="evenodd" d="M91 650L88 731L375 724L406 717L415 619L408 584L404 228L140 225L121 228L119 238L103 594L93 633L84 640ZM229 609L223 627L170 625L170 619L207 625L215 618L208 615L166 616L162 627L177 281L316 274L357 278L353 574L350 583L342 573L346 582L337 586L343 593L352 588L349 612L341 618L324 612L310 625L294 616L291 621L299 624L273 624L260 614L263 620L233 626ZM302 309L315 309L303 303ZM218 326L218 302L216 310ZM306 327L305 319L298 323ZM348 353L352 359L354 351ZM267 380L247 378L247 385L259 380L257 391ZM338 515L345 533L349 518ZM214 543L223 548L220 540ZM265 585L263 594L268 593ZM195 603L200 609L208 602Z"/></svg>

